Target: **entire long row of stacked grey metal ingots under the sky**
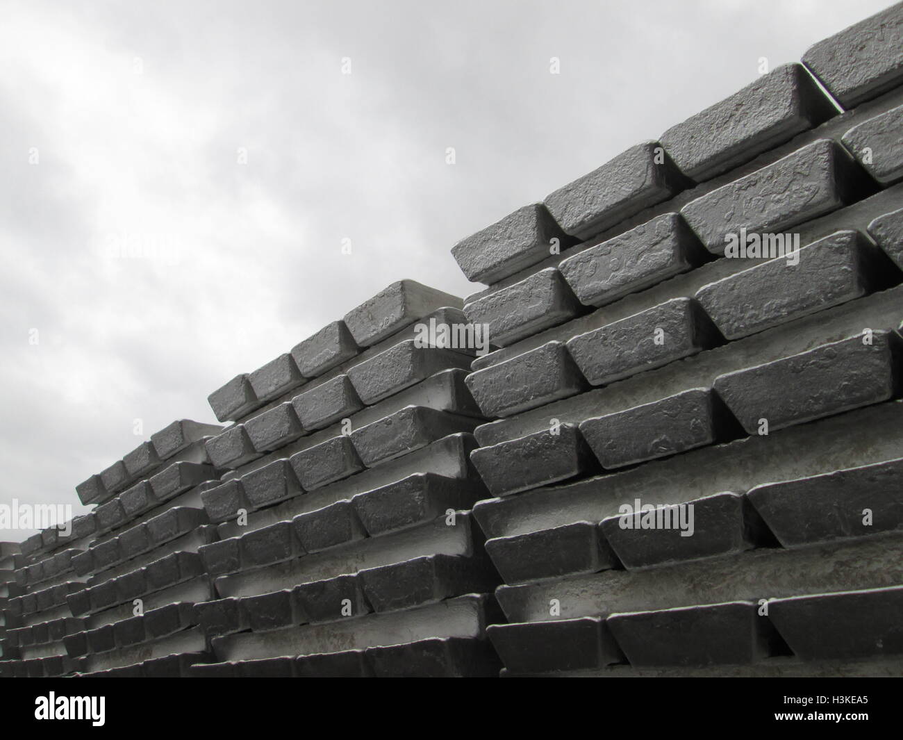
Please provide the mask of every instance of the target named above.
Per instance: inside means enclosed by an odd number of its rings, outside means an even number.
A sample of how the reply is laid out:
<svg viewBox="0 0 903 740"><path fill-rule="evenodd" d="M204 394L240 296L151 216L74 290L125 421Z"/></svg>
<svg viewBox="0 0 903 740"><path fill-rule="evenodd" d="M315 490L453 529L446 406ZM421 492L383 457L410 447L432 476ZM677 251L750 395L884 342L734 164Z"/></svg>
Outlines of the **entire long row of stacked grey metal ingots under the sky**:
<svg viewBox="0 0 903 740"><path fill-rule="evenodd" d="M0 549L6 676L903 673L903 5L463 239ZM830 97L829 97L830 96ZM485 327L488 352L424 345Z"/></svg>

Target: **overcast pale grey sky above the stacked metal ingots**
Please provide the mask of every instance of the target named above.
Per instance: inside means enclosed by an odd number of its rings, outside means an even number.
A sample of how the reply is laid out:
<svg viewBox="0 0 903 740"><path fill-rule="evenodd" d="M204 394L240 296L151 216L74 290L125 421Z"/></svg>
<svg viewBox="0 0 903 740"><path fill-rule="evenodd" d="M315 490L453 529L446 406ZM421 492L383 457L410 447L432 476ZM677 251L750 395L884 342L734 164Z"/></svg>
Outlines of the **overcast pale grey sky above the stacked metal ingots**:
<svg viewBox="0 0 903 740"><path fill-rule="evenodd" d="M472 292L455 241L887 5L3 2L0 502L82 511L237 373L402 277Z"/></svg>

